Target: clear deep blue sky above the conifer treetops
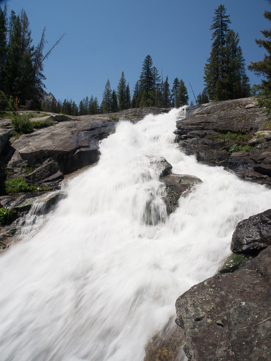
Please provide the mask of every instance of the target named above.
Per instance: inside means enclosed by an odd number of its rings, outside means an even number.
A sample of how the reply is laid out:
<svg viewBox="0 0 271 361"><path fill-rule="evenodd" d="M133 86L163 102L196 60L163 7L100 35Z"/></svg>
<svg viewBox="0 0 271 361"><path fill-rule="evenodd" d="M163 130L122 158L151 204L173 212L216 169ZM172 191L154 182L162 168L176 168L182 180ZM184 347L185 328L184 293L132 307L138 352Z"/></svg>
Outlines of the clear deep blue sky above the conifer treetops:
<svg viewBox="0 0 271 361"><path fill-rule="evenodd" d="M3 5L4 1L0 0ZM142 63L150 55L163 78L182 79L189 102L203 90L204 64L212 45L212 17L220 4L230 15L230 28L239 33L246 64L263 59L264 49L254 39L270 29L263 17L270 0L8 0L9 11L23 7L30 21L33 44L46 27L46 91L56 99L78 104L87 95L102 100L107 79L116 89L122 71L133 90ZM45 49L45 50L46 50ZM260 79L247 72L251 84Z"/></svg>

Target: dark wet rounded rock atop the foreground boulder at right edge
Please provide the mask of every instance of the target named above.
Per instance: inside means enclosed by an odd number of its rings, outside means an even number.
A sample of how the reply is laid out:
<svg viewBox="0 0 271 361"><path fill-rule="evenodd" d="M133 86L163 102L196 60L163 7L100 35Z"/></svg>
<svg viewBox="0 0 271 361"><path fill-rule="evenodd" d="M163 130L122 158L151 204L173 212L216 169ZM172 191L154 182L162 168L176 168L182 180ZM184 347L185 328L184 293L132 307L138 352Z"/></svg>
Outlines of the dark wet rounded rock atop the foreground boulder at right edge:
<svg viewBox="0 0 271 361"><path fill-rule="evenodd" d="M231 240L235 253L257 254L271 245L271 209L238 223Z"/></svg>

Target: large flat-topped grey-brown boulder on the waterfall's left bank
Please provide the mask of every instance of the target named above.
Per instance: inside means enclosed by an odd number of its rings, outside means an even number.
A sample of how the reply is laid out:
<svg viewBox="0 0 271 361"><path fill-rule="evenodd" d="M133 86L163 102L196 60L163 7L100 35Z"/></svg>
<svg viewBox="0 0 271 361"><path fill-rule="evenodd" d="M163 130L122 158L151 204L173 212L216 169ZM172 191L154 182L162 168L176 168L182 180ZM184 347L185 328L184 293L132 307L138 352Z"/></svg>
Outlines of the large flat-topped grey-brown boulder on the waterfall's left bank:
<svg viewBox="0 0 271 361"><path fill-rule="evenodd" d="M90 116L58 121L12 144L15 153L6 168L9 178L23 177L32 184L61 181L64 174L97 162L98 142L115 131L116 123Z"/></svg>

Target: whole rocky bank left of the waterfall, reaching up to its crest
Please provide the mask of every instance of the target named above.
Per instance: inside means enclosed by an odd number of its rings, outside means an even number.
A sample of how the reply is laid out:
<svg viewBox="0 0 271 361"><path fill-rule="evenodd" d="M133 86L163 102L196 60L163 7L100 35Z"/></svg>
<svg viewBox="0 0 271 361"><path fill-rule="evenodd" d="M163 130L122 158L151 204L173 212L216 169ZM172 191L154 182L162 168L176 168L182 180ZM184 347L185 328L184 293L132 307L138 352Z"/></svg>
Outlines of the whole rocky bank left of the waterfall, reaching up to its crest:
<svg viewBox="0 0 271 361"><path fill-rule="evenodd" d="M97 162L99 140L113 133L120 119L136 122L147 114L168 111L150 107L79 117L52 114L47 118L54 125L21 135L2 152L7 179L23 177L30 184L55 186L65 174ZM11 128L10 121L1 121L0 126ZM8 141L10 130L2 128L1 132L0 150Z"/></svg>

